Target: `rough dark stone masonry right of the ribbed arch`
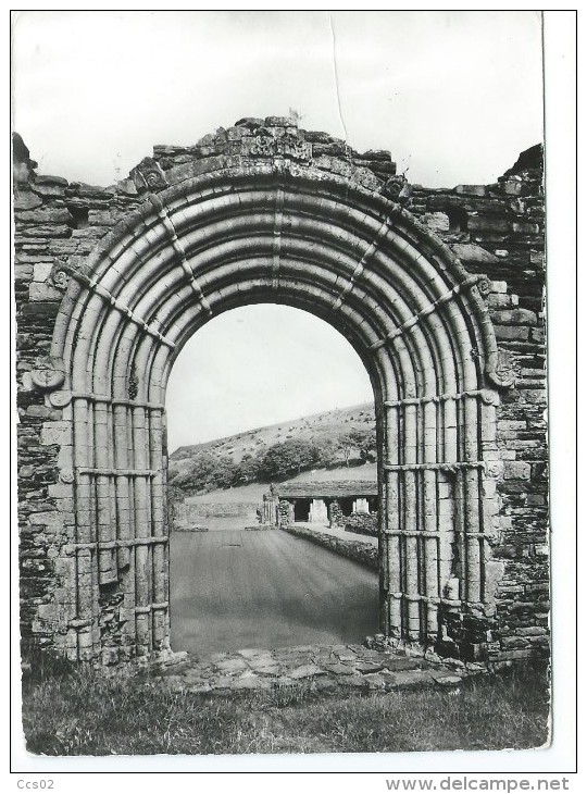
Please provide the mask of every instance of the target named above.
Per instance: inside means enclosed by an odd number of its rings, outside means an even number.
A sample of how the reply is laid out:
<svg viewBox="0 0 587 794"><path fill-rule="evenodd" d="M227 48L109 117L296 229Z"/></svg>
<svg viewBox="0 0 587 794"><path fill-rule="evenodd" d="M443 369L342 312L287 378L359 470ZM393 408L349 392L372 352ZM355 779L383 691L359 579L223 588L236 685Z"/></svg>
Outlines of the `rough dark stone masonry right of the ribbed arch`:
<svg viewBox="0 0 587 794"><path fill-rule="evenodd" d="M548 449L542 151L523 152L492 185L414 186L410 212L447 243L487 295L500 350L515 377L501 395L497 445L503 563L488 648L516 659L548 647Z"/></svg>

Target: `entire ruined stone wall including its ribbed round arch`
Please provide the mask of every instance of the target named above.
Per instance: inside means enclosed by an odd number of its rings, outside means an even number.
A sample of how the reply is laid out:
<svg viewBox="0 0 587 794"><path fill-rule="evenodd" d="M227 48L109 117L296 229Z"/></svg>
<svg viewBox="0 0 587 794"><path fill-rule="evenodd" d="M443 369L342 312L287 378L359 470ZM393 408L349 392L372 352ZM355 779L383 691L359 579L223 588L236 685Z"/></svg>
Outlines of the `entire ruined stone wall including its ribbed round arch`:
<svg viewBox="0 0 587 794"><path fill-rule="evenodd" d="M243 119L96 187L15 136L14 216L25 648L168 648L166 376L210 317L267 300L338 327L374 383L389 642L548 653L540 146L427 189L387 151Z"/></svg>

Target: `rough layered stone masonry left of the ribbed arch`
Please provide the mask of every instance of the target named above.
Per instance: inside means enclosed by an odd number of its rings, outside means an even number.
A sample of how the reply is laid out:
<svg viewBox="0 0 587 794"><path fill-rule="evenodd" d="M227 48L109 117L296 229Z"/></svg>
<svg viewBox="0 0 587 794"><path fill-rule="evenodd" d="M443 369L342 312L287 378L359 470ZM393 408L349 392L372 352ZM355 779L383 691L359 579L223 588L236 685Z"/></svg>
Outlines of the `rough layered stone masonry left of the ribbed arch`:
<svg viewBox="0 0 587 794"><path fill-rule="evenodd" d="M26 645L61 645L75 571L61 556L74 542L71 424L58 393L45 390L54 321L66 269L83 262L118 218L138 206L118 188L39 175L20 138L14 146L14 294L16 309L17 474L21 625ZM108 612L108 610L105 610ZM109 623L104 613L104 626Z"/></svg>

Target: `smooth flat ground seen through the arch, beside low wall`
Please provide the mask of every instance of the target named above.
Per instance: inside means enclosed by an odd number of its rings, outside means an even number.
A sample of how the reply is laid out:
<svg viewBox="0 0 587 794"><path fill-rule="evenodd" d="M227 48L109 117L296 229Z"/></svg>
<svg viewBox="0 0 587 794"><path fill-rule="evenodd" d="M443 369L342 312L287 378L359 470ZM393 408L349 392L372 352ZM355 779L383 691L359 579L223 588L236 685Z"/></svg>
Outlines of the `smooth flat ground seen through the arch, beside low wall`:
<svg viewBox="0 0 587 794"><path fill-rule="evenodd" d="M377 631L377 574L279 530L172 533L172 647L362 642Z"/></svg>

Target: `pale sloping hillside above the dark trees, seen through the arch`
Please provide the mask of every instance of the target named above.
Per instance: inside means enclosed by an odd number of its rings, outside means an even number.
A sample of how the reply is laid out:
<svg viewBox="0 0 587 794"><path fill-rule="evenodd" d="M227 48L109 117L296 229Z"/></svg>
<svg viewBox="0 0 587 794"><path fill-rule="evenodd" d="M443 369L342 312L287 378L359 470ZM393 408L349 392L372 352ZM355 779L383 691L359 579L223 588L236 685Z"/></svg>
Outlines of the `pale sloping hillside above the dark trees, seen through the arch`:
<svg viewBox="0 0 587 794"><path fill-rule="evenodd" d="M335 408L322 413L301 417L279 424L255 427L236 435L216 438L203 444L182 446L170 456L175 472L187 471L191 459L200 452L212 452L230 458L238 463L243 455L255 456L273 444L289 438L311 441L336 438L353 429L369 430L375 426L375 409L372 402L348 408Z"/></svg>

